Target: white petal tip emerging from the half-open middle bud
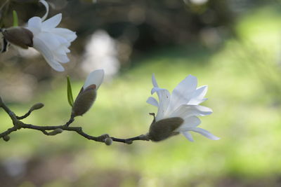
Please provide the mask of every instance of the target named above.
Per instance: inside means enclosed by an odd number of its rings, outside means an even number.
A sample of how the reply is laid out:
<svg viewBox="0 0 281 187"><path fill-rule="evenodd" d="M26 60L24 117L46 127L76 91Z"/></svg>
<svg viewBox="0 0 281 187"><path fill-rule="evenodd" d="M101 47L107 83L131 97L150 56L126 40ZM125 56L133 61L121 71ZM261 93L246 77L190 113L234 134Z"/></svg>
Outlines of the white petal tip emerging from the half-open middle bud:
<svg viewBox="0 0 281 187"><path fill-rule="evenodd" d="M105 76L105 71L103 69L96 69L92 71L91 74L86 78L83 88L86 89L89 85L96 85L96 89L100 87L103 83L103 77Z"/></svg>

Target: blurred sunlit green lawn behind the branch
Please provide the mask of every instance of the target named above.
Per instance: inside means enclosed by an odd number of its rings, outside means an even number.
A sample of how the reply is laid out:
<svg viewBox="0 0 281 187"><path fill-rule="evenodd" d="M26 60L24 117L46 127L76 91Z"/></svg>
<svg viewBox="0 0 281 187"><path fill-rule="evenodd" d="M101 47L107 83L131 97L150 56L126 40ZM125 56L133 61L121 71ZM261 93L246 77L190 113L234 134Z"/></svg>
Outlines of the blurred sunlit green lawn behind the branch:
<svg viewBox="0 0 281 187"><path fill-rule="evenodd" d="M244 15L237 23L240 41L229 39L220 50L193 44L150 54L133 69L101 85L91 111L73 124L92 135L108 133L126 138L144 134L152 121L148 113L156 112L155 107L145 103L152 88L152 73L159 86L168 90L192 74L199 85L209 85L209 100L202 105L214 110L211 116L201 118L200 126L221 137L219 141L194 134L194 143L177 136L160 143L136 141L132 145L105 146L72 132L46 137L40 132L20 130L11 134L11 141L1 143L1 162L37 159L37 165L31 167L34 169L41 162L53 160L60 169L39 170L39 175L50 171L55 175L45 179L44 186L227 186L229 180L240 186L259 186L263 184L260 181L277 186L281 177L281 124L280 104L276 102L280 99L271 95L264 84L280 88L281 83L276 76L280 74L277 59L273 57L279 53L281 41L278 10L268 6ZM264 53L252 53L261 50ZM273 72L265 75L263 71L267 70L259 65L264 63ZM72 85L74 97L82 84ZM53 85L49 92L34 99L46 107L25 122L60 125L68 120L66 84ZM11 108L20 114L32 104ZM0 120L1 131L10 127L3 112ZM28 181L33 179L25 180L22 186L32 186Z"/></svg>

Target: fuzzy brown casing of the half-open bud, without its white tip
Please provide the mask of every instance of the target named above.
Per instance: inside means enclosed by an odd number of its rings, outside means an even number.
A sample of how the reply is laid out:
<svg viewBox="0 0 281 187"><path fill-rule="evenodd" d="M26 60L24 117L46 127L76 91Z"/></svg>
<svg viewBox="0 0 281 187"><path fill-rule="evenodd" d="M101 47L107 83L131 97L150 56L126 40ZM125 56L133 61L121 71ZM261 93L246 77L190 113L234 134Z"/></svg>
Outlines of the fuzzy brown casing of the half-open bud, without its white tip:
<svg viewBox="0 0 281 187"><path fill-rule="evenodd" d="M85 90L81 88L72 107L72 116L82 116L89 111L96 100L96 85L89 85Z"/></svg>

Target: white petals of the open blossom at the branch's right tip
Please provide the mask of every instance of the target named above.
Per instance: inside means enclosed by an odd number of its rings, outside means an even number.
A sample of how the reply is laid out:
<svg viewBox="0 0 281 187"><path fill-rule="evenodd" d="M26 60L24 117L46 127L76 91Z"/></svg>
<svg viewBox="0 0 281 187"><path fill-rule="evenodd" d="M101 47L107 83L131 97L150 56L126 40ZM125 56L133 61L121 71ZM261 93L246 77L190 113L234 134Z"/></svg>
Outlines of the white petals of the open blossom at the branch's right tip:
<svg viewBox="0 0 281 187"><path fill-rule="evenodd" d="M176 86L170 95L168 90L158 87L154 74L152 84L154 87L151 94L157 92L159 103L154 97L149 97L147 102L158 107L155 123L159 120L180 118L183 123L174 132L181 132L189 141L194 141L190 131L198 132L209 139L219 139L211 132L197 127L201 123L197 116L212 113L211 109L199 105L206 100L204 96L207 93L207 85L197 88L197 78L189 75Z"/></svg>

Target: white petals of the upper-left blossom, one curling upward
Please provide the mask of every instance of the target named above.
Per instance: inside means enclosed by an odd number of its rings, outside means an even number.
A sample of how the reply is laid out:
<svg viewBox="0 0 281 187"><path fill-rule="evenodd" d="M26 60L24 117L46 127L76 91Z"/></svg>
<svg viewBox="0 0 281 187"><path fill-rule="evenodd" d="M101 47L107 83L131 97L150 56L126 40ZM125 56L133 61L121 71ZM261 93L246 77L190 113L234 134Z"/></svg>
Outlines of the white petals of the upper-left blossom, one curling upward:
<svg viewBox="0 0 281 187"><path fill-rule="evenodd" d="M40 2L46 7L46 14L43 18L30 18L26 29L33 34L33 47L44 56L48 64L56 71L64 71L60 63L70 61L67 57L67 53L70 53L68 48L77 35L70 29L56 28L62 19L61 13L45 20L48 15L48 3L44 0Z"/></svg>

